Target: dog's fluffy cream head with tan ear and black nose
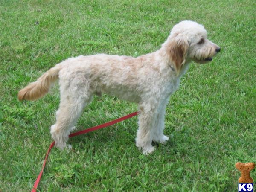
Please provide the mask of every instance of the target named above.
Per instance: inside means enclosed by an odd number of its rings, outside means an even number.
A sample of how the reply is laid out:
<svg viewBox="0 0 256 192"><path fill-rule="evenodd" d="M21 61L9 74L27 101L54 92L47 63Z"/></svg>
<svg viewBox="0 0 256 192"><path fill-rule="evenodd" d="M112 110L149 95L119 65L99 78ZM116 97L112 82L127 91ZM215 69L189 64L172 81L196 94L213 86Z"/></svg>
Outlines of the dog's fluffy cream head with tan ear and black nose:
<svg viewBox="0 0 256 192"><path fill-rule="evenodd" d="M189 20L176 24L163 45L177 71L191 60L200 64L212 61L212 57L221 50L207 39L204 26Z"/></svg>

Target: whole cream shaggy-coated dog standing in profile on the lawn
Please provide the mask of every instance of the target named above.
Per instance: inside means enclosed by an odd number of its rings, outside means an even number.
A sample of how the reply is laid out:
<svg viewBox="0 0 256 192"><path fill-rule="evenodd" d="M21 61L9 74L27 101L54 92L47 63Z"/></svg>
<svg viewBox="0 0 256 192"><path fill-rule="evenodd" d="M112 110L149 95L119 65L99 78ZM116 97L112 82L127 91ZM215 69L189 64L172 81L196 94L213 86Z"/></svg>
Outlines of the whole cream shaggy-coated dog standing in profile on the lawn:
<svg viewBox="0 0 256 192"><path fill-rule="evenodd" d="M189 63L211 61L220 49L207 40L202 25L181 21L156 52L137 58L105 54L69 58L20 90L18 99L35 100L44 96L59 78L61 103L51 134L56 147L61 149L94 94L106 93L138 103L136 145L148 154L154 151L152 141L165 143L169 139L163 134L166 105Z"/></svg>

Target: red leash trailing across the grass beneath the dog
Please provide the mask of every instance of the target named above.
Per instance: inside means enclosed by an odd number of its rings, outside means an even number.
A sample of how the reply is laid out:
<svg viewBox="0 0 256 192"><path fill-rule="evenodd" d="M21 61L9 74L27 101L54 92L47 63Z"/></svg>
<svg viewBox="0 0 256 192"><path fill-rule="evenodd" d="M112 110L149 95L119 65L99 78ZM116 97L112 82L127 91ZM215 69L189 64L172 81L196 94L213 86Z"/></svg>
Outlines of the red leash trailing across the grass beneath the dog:
<svg viewBox="0 0 256 192"><path fill-rule="evenodd" d="M126 115L126 116L123 116L123 117L121 117L121 118L119 118L119 119L116 119L116 120L113 120L113 121L111 121L111 122L107 122L107 123L104 123L104 124L102 124L102 125L98 125L98 126L95 126L95 127L92 127L92 128L84 129L84 130L82 130L82 131L78 131L78 132L76 132L76 133L70 134L69 137L75 137L75 136L77 136L77 135L85 134L85 133L88 133L88 132L91 132L91 131L96 131L96 130L98 130L98 129L102 129L102 128L105 128L105 127L114 125L114 124L116 124L116 123L118 123L118 122L124 121L125 119L129 119L129 118L131 118L131 117L133 117L133 116L136 116L138 113L139 113L139 112L136 111L136 112L134 112L134 113L131 113L131 114ZM39 182L40 182L41 176L43 175L43 172L44 172L44 167L45 167L46 162L47 162L47 157L48 157L48 155L49 155L51 149L53 148L54 144L55 144L55 141L52 142L51 145L50 145L49 148L48 148L48 151L47 151L46 156L45 156L45 158L44 158L44 163L43 163L41 172L39 173L39 175L38 175L38 177L37 177L37 179L36 179L36 181L35 181L34 187L33 187L33 189L32 189L31 192L36 192L36 190L37 190L37 187L38 187L38 184L39 184Z"/></svg>

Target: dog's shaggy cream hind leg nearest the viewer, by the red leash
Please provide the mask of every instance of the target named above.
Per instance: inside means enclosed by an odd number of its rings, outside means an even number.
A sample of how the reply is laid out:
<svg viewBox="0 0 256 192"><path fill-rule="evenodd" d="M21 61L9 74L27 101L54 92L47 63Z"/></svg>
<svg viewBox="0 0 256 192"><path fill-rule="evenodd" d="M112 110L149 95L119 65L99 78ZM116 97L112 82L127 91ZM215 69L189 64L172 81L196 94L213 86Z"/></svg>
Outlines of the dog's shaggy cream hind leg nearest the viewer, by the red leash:
<svg viewBox="0 0 256 192"><path fill-rule="evenodd" d="M55 146L60 149L65 148L70 131L92 98L92 94L84 86L75 86L71 83L69 87L63 87L61 85L61 103L56 112L56 122L51 126Z"/></svg>

